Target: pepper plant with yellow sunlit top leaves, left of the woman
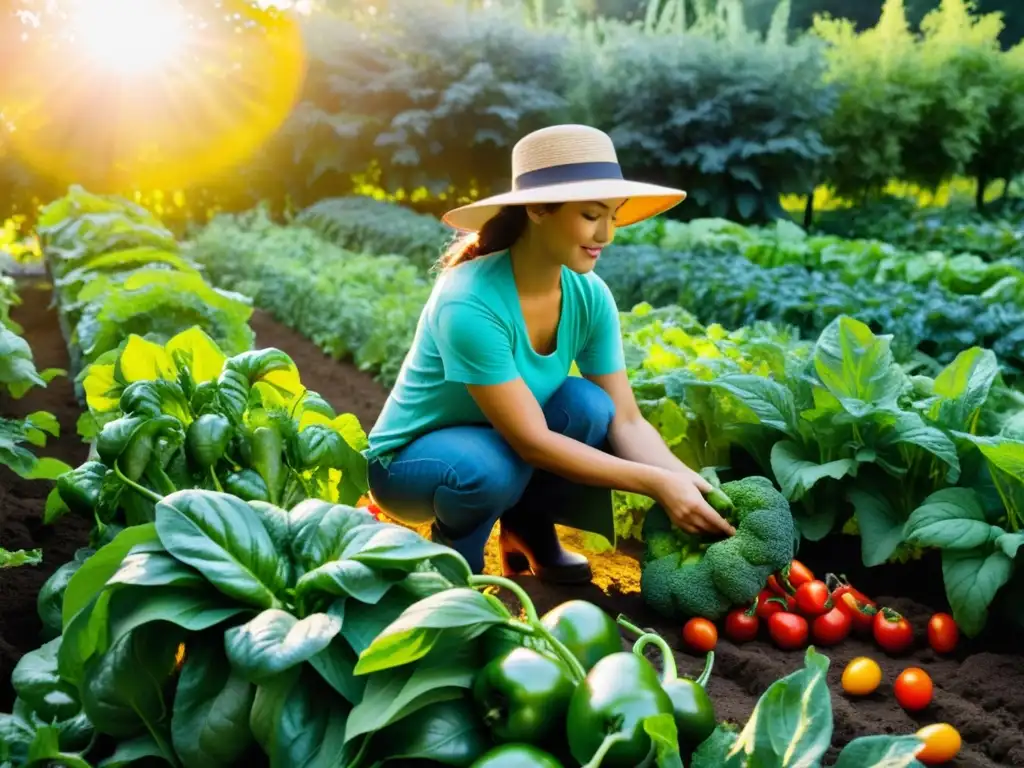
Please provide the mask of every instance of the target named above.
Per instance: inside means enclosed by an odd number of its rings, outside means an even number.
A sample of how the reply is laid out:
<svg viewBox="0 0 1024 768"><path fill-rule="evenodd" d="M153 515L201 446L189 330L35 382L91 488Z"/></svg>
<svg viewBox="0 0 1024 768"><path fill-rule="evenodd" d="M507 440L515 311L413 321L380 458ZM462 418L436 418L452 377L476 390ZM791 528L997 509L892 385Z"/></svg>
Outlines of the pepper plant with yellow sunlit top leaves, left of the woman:
<svg viewBox="0 0 1024 768"><path fill-rule="evenodd" d="M358 421L306 390L281 350L228 357L191 328L166 346L130 336L85 374L95 456L58 478L66 506L48 522L69 509L100 528L150 522L154 503L183 488L287 507L355 504L367 490Z"/></svg>

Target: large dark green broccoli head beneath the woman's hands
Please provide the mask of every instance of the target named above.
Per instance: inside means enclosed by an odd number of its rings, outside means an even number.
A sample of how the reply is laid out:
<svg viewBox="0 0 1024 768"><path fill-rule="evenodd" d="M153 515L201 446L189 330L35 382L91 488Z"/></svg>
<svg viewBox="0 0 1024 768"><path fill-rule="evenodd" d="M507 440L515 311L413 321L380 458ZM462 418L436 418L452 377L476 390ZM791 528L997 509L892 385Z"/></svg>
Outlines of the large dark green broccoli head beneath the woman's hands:
<svg viewBox="0 0 1024 768"><path fill-rule="evenodd" d="M713 540L687 534L657 504L644 520L640 591L666 617L719 618L733 605L749 604L768 577L793 560L790 503L767 477L723 483L709 502L736 528L735 536Z"/></svg>

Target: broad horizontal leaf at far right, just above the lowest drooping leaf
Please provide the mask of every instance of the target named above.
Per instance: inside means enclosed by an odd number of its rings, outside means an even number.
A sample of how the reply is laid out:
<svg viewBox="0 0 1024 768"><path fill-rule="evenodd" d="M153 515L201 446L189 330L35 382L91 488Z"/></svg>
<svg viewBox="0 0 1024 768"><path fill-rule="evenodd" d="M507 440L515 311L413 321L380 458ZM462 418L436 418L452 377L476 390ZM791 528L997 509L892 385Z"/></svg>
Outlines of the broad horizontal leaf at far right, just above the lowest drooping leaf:
<svg viewBox="0 0 1024 768"><path fill-rule="evenodd" d="M1002 529L991 525L974 488L942 488L910 513L904 528L909 544L941 550L974 550Z"/></svg>

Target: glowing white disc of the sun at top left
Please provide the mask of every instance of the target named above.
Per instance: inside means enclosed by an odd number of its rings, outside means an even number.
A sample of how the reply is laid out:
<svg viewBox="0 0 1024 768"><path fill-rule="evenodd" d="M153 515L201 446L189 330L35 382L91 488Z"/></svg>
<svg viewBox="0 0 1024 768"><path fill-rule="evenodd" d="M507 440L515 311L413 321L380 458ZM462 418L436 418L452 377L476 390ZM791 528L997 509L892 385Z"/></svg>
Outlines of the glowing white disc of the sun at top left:
<svg viewBox="0 0 1024 768"><path fill-rule="evenodd" d="M184 47L184 10L173 0L82 0L72 34L98 68L119 75L152 73Z"/></svg>

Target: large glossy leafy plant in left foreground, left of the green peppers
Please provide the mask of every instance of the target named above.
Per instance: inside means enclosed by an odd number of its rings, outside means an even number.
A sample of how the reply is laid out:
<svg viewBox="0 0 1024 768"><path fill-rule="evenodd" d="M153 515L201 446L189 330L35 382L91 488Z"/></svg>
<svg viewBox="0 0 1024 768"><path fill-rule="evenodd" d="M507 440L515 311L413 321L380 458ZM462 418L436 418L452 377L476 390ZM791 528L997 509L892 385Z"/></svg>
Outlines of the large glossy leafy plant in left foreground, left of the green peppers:
<svg viewBox="0 0 1024 768"><path fill-rule="evenodd" d="M232 765L254 749L271 766L354 765L370 735L347 738L346 724L357 730L358 706L395 696L353 674L358 654L407 607L468 578L453 550L365 510L181 490L72 577L57 673L98 733L172 765ZM449 689L463 678L453 672ZM432 692L370 730L452 706ZM437 724L425 714L386 743L428 738Z"/></svg>

